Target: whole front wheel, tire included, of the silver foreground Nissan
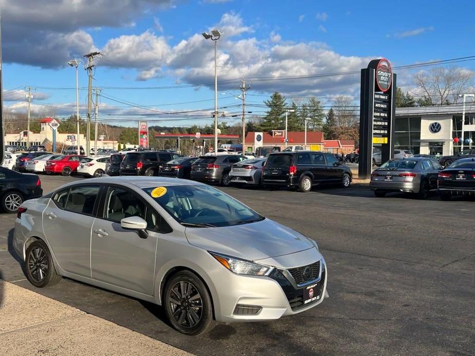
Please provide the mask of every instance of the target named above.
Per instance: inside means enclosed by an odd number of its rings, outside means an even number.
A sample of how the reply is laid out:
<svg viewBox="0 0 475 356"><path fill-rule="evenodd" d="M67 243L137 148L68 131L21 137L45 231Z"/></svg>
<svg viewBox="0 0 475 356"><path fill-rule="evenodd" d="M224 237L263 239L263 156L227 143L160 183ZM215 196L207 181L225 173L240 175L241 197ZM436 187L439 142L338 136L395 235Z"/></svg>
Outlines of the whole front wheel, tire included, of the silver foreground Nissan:
<svg viewBox="0 0 475 356"><path fill-rule="evenodd" d="M214 327L210 293L195 273L176 273L167 282L163 295L166 316L176 330L197 335Z"/></svg>

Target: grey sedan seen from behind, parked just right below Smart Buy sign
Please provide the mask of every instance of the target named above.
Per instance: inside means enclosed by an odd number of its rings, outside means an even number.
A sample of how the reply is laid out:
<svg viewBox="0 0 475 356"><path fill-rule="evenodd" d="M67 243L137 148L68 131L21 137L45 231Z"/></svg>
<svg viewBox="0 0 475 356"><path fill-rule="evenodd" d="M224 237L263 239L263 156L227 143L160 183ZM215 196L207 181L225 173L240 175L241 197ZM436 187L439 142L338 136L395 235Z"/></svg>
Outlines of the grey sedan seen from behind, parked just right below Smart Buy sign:
<svg viewBox="0 0 475 356"><path fill-rule="evenodd" d="M437 190L439 162L426 157L389 160L371 174L370 187L377 197L388 192L415 193L426 199L430 191Z"/></svg>

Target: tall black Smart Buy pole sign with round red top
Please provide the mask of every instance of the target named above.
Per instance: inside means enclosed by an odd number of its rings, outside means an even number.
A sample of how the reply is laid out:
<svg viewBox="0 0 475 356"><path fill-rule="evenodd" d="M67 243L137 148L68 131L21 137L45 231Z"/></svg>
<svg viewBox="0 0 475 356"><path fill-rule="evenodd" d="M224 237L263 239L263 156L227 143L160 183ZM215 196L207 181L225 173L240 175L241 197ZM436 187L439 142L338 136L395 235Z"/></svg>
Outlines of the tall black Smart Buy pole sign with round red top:
<svg viewBox="0 0 475 356"><path fill-rule="evenodd" d="M361 70L359 111L359 168L362 179L371 175L373 148L381 150L382 162L394 156L396 74L386 58L372 60Z"/></svg>

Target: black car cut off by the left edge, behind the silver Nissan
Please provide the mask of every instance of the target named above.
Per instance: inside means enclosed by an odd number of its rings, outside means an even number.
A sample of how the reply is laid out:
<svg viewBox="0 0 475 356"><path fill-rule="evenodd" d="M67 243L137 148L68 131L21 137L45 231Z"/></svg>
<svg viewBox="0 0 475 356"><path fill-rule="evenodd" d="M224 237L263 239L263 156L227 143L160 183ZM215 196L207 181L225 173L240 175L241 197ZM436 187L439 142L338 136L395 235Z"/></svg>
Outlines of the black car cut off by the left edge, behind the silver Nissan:
<svg viewBox="0 0 475 356"><path fill-rule="evenodd" d="M43 194L40 177L36 174L18 173L0 167L0 207L8 213L15 213L28 199Z"/></svg>

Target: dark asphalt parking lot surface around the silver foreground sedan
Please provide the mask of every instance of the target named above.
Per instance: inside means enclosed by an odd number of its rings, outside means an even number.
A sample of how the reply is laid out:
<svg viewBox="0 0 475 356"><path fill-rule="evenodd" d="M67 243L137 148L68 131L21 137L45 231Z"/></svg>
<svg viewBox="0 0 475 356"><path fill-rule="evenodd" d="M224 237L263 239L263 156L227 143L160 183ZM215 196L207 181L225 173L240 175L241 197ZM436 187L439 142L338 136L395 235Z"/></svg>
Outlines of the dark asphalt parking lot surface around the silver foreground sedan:
<svg viewBox="0 0 475 356"><path fill-rule="evenodd" d="M47 192L75 178L41 179ZM68 279L34 288L11 251L9 214L0 214L0 278L198 355L475 354L475 202L376 198L364 187L220 189L317 241L330 298L278 321L187 337L153 304Z"/></svg>

